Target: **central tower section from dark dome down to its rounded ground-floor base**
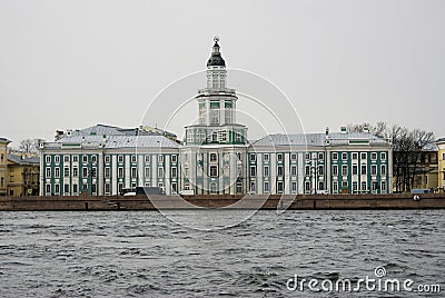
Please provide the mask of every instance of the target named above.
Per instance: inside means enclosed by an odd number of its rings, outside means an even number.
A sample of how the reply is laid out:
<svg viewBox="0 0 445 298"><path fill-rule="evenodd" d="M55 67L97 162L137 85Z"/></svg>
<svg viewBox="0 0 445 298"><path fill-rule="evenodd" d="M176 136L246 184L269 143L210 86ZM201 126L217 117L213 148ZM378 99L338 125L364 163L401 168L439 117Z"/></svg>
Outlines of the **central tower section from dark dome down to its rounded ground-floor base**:
<svg viewBox="0 0 445 298"><path fill-rule="evenodd" d="M226 61L215 37L207 86L198 90L198 123L186 127L182 189L196 195L237 195L246 189L247 127L236 122L238 97L227 85Z"/></svg>

